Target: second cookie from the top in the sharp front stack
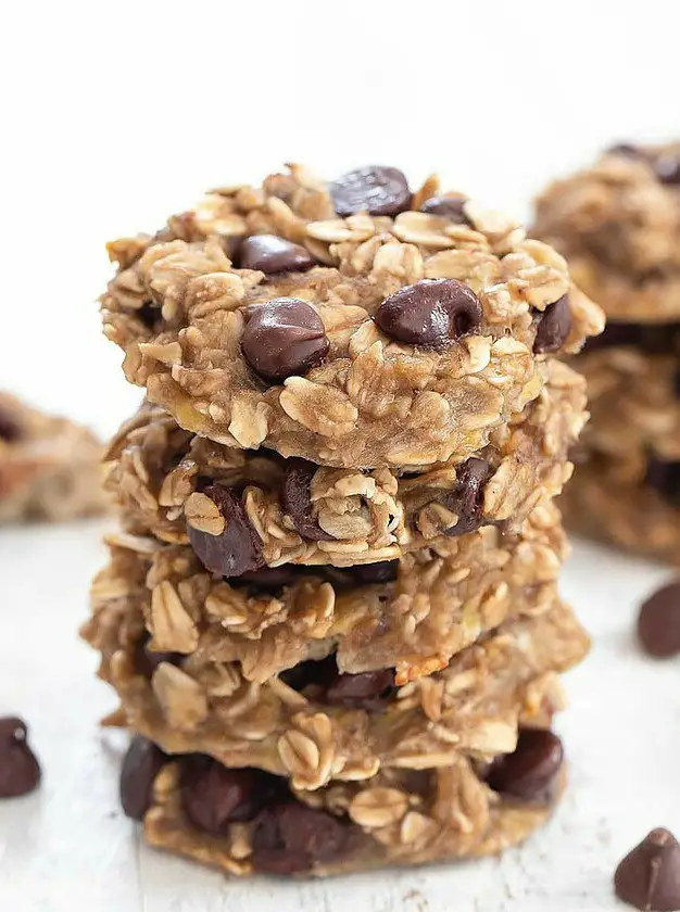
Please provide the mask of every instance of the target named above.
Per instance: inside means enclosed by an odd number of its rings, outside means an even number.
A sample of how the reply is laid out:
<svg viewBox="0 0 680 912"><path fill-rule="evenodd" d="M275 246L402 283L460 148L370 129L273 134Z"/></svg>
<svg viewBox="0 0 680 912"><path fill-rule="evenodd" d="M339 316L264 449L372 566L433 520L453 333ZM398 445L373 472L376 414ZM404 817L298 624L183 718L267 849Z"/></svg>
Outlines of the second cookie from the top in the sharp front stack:
<svg viewBox="0 0 680 912"><path fill-rule="evenodd" d="M569 479L587 417L583 380L552 360L539 396L464 463L362 471L226 447L146 405L110 444L106 489L128 531L191 543L225 577L393 560L483 525L518 531Z"/></svg>

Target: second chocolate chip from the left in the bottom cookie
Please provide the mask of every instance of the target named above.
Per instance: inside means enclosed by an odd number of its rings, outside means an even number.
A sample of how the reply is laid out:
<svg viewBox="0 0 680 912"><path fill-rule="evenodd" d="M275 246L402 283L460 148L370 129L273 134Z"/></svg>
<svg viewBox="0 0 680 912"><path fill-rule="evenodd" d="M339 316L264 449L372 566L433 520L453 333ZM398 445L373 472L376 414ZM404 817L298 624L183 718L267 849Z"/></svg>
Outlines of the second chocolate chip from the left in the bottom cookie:
<svg viewBox="0 0 680 912"><path fill-rule="evenodd" d="M202 753L182 759L179 791L185 813L203 833L226 835L229 824L253 820L275 794L274 776L231 770Z"/></svg>

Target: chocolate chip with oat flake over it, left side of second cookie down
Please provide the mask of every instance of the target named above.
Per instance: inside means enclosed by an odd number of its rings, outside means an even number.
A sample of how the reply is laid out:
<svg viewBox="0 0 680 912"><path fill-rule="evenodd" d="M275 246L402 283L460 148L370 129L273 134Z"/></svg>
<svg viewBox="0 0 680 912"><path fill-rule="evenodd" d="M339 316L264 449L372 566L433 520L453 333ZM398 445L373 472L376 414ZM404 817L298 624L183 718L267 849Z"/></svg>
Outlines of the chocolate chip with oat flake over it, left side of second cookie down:
<svg viewBox="0 0 680 912"><path fill-rule="evenodd" d="M243 505L228 487L209 485L203 493L217 505L225 520L221 535L210 535L187 524L189 541L206 570L221 577L239 577L264 565L262 542Z"/></svg>

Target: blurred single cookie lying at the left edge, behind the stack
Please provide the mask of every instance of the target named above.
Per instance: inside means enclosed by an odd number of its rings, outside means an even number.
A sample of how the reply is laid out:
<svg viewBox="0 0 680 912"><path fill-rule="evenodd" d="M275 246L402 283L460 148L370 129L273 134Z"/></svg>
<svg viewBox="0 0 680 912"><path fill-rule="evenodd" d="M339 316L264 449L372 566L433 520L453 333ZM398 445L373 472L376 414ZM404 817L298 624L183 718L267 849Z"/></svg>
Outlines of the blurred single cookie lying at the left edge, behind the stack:
<svg viewBox="0 0 680 912"><path fill-rule="evenodd" d="M0 523L101 512L102 454L86 428L0 393Z"/></svg>

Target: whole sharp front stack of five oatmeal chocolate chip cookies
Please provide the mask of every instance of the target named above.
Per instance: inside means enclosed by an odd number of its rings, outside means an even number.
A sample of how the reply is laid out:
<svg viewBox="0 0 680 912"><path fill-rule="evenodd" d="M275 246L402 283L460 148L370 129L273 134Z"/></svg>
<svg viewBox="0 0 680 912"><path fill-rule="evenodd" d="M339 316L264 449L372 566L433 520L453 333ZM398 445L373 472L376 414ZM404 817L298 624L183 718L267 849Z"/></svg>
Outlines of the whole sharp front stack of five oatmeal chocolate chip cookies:
<svg viewBox="0 0 680 912"><path fill-rule="evenodd" d="M149 843L238 875L498 852L564 786L554 497L603 318L522 229L300 166L111 244L148 401L85 637Z"/></svg>

